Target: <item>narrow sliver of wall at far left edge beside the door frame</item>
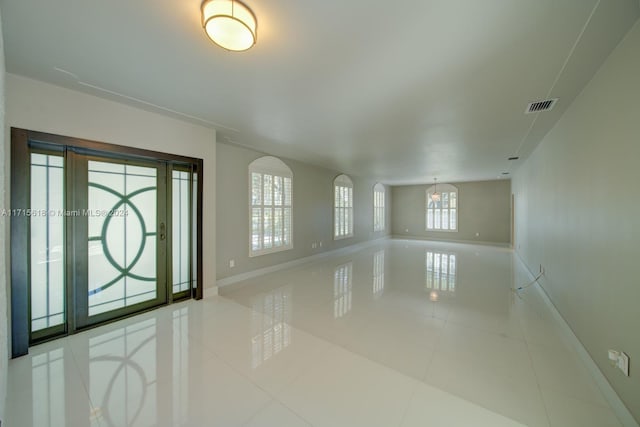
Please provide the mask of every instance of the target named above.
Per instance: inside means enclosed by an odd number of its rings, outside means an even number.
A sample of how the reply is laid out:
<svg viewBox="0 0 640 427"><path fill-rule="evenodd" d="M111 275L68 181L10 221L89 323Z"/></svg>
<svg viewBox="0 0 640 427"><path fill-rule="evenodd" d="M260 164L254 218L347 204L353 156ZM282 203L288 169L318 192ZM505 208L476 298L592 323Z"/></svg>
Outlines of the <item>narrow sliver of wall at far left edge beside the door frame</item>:
<svg viewBox="0 0 640 427"><path fill-rule="evenodd" d="M9 207L9 144L5 139L5 73L4 42L2 40L2 17L0 16L0 209ZM7 256L9 241L8 221L0 215L0 420L4 419L4 401L7 391L7 362L9 357L8 336L9 319L7 317Z"/></svg>

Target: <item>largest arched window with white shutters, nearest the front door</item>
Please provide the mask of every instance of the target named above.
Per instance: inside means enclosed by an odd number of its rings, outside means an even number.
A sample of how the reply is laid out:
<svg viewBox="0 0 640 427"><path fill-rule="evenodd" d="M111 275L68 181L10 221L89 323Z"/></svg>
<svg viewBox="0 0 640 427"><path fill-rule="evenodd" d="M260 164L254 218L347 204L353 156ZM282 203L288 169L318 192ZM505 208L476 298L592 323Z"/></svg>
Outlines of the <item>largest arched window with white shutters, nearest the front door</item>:
<svg viewBox="0 0 640 427"><path fill-rule="evenodd" d="M293 172L276 157L249 164L249 256L293 248Z"/></svg>

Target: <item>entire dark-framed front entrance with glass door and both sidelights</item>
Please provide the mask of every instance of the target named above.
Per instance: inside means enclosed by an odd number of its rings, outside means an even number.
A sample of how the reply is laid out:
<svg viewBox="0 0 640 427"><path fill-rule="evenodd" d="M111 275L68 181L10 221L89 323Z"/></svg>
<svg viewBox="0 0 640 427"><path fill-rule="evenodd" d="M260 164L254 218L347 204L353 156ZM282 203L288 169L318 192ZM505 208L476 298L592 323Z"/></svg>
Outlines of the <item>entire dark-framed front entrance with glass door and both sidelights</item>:
<svg viewBox="0 0 640 427"><path fill-rule="evenodd" d="M13 357L202 297L201 161L91 144L12 129Z"/></svg>

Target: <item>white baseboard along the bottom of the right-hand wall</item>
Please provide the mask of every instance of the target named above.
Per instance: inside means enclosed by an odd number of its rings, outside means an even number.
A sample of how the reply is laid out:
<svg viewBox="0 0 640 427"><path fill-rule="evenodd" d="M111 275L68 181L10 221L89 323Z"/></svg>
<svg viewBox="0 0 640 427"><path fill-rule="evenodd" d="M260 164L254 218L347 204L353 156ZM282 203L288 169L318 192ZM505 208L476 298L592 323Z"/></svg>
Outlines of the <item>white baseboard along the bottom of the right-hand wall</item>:
<svg viewBox="0 0 640 427"><path fill-rule="evenodd" d="M520 258L520 254L518 254L515 251L514 253L518 257L518 260L525 267L525 270L530 276L529 277L530 280L535 279L535 275L531 272L531 269L529 269L529 267L524 262L524 260ZM569 341L569 344L571 344L573 349L576 350L576 352L578 353L578 357L589 370L591 377L594 379L594 381L598 385L598 388L604 395L607 402L609 402L611 409L613 409L613 411L615 412L620 422L622 422L622 424L625 427L640 427L640 425L638 425L638 422L635 420L635 418L633 417L629 409L627 409L625 404L620 399L620 396L618 396L618 393L616 393L613 387L611 387L611 384L609 384L607 377L604 376L604 374L602 373L602 371L600 370L596 362L589 355L589 352L587 351L587 349L584 348L584 346L582 345L582 342L580 342L578 337L573 333L573 330L571 329L569 324L566 322L564 317L562 317L562 315L560 314L556 306L553 304L553 301L551 301L551 298L549 298L547 291L545 291L545 289L539 283L537 283L536 286L534 286L534 288L536 288L539 294L542 296L542 299L549 307L549 310L551 311L551 314L553 315L556 323L562 330L562 333Z"/></svg>

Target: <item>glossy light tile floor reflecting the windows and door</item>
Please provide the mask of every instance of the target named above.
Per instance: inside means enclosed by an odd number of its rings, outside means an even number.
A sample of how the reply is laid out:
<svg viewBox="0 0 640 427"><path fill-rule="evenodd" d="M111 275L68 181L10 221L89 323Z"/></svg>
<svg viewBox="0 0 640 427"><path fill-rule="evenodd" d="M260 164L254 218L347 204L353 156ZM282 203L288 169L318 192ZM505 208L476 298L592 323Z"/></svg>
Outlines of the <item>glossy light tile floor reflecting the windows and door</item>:
<svg viewBox="0 0 640 427"><path fill-rule="evenodd" d="M619 426L528 281L383 241L35 346L3 426Z"/></svg>

